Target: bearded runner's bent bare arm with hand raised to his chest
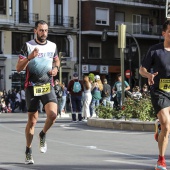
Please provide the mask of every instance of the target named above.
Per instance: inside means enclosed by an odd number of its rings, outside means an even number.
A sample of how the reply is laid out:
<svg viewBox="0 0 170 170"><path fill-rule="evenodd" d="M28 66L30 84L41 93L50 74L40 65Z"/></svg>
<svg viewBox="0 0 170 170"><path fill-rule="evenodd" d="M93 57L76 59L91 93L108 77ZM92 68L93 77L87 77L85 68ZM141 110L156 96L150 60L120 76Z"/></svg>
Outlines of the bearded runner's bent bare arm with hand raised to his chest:
<svg viewBox="0 0 170 170"><path fill-rule="evenodd" d="M35 58L36 56L38 56L38 48L35 48L32 53L30 55L28 55L26 58L19 58L17 65L16 65L16 70L17 72L20 72L22 70L24 70L26 68L26 66L28 65L29 61L33 58Z"/></svg>

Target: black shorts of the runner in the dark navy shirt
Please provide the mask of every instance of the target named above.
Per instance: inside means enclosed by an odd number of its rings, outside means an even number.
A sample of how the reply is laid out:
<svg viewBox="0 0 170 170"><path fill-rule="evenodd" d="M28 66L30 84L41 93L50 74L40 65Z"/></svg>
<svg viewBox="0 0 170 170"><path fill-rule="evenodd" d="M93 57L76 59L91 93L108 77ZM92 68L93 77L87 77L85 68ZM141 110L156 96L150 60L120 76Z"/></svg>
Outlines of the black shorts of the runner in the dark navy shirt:
<svg viewBox="0 0 170 170"><path fill-rule="evenodd" d="M160 110L170 107L170 93L162 90L152 90L151 101L155 113L157 114Z"/></svg>

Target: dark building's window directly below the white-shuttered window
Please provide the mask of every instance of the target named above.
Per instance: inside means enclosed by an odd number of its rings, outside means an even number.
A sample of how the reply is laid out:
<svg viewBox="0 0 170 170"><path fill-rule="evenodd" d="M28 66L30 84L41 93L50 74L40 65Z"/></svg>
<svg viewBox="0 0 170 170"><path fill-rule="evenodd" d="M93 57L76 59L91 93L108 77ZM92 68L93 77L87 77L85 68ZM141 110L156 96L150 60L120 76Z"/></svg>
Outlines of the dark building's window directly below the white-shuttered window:
<svg viewBox="0 0 170 170"><path fill-rule="evenodd" d="M100 59L101 58L101 44L89 43L88 52L89 52L89 59Z"/></svg>

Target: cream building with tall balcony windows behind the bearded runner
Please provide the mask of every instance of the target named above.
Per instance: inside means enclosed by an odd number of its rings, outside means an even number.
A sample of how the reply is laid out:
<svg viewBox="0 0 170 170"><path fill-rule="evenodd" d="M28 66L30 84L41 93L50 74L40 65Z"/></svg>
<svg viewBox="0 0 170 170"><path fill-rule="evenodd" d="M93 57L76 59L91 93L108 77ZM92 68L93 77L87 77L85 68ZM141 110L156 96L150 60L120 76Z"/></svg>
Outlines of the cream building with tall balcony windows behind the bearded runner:
<svg viewBox="0 0 170 170"><path fill-rule="evenodd" d="M67 84L77 62L77 8L77 0L0 1L0 90L23 87L25 71L18 74L15 66L24 42L35 38L34 24L40 19L49 24L48 39L66 53L62 81Z"/></svg>

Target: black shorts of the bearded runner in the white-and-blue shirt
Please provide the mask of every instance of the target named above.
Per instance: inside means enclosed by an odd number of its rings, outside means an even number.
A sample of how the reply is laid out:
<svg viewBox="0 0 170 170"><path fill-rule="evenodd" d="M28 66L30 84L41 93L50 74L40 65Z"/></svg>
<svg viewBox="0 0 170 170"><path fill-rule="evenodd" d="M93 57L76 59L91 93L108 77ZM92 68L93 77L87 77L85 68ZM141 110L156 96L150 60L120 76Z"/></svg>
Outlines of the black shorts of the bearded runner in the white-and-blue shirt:
<svg viewBox="0 0 170 170"><path fill-rule="evenodd" d="M28 112L36 112L38 110L39 100L41 100L43 106L49 102L57 103L57 98L53 86L51 86L50 93L44 94L42 96L34 96L33 87L29 86L25 90L25 98Z"/></svg>

